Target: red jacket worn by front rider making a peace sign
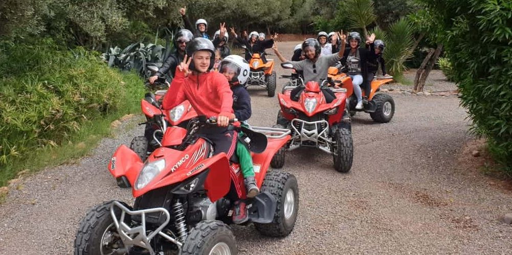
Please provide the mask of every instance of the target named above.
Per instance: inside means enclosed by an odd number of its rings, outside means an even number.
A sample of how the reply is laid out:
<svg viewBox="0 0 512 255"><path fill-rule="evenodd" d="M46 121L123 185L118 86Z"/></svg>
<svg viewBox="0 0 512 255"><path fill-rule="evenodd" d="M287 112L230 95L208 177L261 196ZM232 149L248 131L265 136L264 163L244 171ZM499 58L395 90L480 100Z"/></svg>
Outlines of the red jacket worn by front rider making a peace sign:
<svg viewBox="0 0 512 255"><path fill-rule="evenodd" d="M218 72L199 75L190 73L185 77L179 68L162 102L163 109L172 109L188 100L198 114L206 117L223 115L231 117L233 113L233 92L226 77Z"/></svg>

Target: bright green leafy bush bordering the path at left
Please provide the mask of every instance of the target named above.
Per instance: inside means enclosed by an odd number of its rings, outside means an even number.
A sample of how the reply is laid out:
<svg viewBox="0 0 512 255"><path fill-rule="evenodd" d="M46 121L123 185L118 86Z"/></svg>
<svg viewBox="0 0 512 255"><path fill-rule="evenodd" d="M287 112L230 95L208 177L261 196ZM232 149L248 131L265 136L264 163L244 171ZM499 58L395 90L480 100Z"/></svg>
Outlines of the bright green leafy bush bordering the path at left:
<svg viewBox="0 0 512 255"><path fill-rule="evenodd" d="M24 153L62 144L86 123L137 111L144 86L136 75L120 74L80 48L58 50L51 40L0 44L1 169L19 164Z"/></svg>

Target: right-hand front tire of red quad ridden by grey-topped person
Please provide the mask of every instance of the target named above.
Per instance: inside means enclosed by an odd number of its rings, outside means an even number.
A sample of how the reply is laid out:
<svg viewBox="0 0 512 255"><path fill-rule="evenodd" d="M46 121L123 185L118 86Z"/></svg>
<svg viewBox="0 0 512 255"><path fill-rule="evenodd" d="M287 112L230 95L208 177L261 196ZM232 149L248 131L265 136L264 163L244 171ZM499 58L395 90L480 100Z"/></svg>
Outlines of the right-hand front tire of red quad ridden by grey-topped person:
<svg viewBox="0 0 512 255"><path fill-rule="evenodd" d="M354 158L354 146L352 133L347 128L338 128L334 133L334 169L338 172L348 173L352 168Z"/></svg>

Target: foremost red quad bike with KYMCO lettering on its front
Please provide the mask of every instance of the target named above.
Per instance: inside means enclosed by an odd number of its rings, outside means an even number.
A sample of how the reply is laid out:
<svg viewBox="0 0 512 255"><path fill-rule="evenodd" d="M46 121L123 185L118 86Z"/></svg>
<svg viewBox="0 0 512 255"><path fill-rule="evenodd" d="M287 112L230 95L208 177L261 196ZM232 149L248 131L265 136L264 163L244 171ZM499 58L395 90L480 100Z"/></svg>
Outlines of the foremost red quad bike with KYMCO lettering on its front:
<svg viewBox="0 0 512 255"><path fill-rule="evenodd" d="M263 235L290 234L298 213L297 180L283 171L267 172L272 156L288 142L289 130L240 128L251 140L261 187L249 199L240 166L225 153L212 156L214 145L196 135L206 125L216 125L216 119L201 116L187 129L168 127L162 146L145 162L121 145L108 168L119 186L132 187L135 202L93 207L80 222L75 254L237 254L227 225L234 224L233 215L245 216L234 221L253 222Z"/></svg>

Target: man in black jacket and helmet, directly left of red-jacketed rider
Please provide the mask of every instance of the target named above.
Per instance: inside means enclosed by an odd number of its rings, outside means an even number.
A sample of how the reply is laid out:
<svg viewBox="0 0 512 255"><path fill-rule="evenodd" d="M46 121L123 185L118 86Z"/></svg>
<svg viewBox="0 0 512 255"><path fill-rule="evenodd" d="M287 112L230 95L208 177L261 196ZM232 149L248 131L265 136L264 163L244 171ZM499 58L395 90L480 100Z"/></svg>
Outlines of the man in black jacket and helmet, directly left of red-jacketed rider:
<svg viewBox="0 0 512 255"><path fill-rule="evenodd" d="M153 84L158 77L164 76L170 71L170 74L174 77L176 74L176 66L178 66L181 61L183 61L183 57L185 56L185 48L187 47L187 43L194 39L194 35L188 29L180 29L178 33L174 36L174 48L176 49L173 53L171 53L163 62L162 67L158 69L158 72L150 77L149 81Z"/></svg>

